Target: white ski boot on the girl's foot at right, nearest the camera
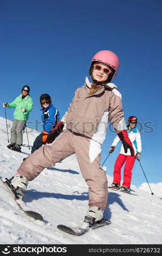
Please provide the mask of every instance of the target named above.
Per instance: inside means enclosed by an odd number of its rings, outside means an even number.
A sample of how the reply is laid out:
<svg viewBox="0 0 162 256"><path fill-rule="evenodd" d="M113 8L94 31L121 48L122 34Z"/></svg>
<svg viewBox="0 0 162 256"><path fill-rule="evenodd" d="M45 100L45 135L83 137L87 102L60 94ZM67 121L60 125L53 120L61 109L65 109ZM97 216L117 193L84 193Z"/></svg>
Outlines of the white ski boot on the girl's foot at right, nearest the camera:
<svg viewBox="0 0 162 256"><path fill-rule="evenodd" d="M85 229L87 227L95 226L98 222L101 222L104 219L104 211L98 206L89 207L84 222L81 225L81 228Z"/></svg>

